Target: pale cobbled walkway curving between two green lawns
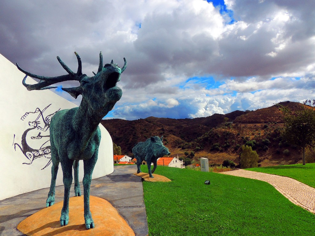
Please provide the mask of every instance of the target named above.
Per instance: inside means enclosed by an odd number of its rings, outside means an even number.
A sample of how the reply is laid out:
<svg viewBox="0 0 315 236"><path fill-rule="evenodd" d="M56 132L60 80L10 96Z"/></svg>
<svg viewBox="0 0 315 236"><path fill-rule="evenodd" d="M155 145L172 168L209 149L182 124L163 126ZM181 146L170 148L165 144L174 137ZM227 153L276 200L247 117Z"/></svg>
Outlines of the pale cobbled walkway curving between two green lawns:
<svg viewBox="0 0 315 236"><path fill-rule="evenodd" d="M315 214L315 188L312 188L295 179L241 169L221 173L250 179L258 179L270 183L295 205L301 206L307 211Z"/></svg>

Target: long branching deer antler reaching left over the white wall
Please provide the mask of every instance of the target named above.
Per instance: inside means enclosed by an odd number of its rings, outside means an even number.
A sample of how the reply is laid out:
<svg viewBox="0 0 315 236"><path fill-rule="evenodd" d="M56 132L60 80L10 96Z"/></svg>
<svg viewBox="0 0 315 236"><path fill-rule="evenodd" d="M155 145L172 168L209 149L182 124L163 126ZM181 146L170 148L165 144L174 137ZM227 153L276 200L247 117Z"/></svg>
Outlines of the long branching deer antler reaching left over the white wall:
<svg viewBox="0 0 315 236"><path fill-rule="evenodd" d="M23 73L26 74L24 77L22 84L27 88L27 90L43 90L43 89L49 89L49 88L56 88L52 87L49 85L63 82L63 81L68 81L68 80L76 80L76 81L81 81L81 79L86 76L82 74L82 62L80 56L74 52L77 56L78 60L78 70L77 73L74 73L70 68L57 56L57 60L59 61L60 65L69 73L68 75L62 75L62 76L55 76L55 77L47 77L47 76L38 76L35 74L32 74L30 72L27 72L23 69L20 68L20 66L16 63L17 68L22 71ZM101 53L100 53L101 54ZM100 55L101 57L101 55ZM102 59L103 61L103 59ZM32 78L40 79L40 81L37 84L26 84L26 77L30 76Z"/></svg>

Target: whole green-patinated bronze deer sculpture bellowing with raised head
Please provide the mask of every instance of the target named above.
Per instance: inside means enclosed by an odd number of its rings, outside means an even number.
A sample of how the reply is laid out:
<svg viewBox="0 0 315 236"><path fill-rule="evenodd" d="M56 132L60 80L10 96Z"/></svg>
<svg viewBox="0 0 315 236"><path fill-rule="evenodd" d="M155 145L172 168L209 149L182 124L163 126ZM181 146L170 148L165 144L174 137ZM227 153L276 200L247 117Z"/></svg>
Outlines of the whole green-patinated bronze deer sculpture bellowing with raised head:
<svg viewBox="0 0 315 236"><path fill-rule="evenodd" d="M116 87L120 81L121 73L127 67L127 61L124 58L124 66L120 68L117 64L105 64L103 67L103 55L100 52L100 64L97 73L93 77L82 74L82 62L80 56L75 52L78 60L77 73L74 73L57 56L61 66L68 72L68 75L46 77L31 74L22 70L18 64L16 66L20 71L26 74L22 84L27 90L43 90L51 87L50 85L61 82L75 80L80 82L80 86L72 88L62 88L70 93L74 98L82 95L82 101L79 107L58 111L50 123L50 144L51 144L51 183L46 206L49 207L55 201L55 185L59 163L61 163L63 172L63 183L65 185L64 202L61 210L60 225L67 225L69 222L69 195L72 184L72 166L74 169L74 193L75 196L81 196L81 190L78 180L79 160L84 164L84 220L87 229L94 228L94 222L90 212L89 193L92 172L97 160L98 149L100 146L100 128L98 125L102 118L112 110L113 106L122 96L122 90ZM26 84L26 77L40 79L37 84Z"/></svg>

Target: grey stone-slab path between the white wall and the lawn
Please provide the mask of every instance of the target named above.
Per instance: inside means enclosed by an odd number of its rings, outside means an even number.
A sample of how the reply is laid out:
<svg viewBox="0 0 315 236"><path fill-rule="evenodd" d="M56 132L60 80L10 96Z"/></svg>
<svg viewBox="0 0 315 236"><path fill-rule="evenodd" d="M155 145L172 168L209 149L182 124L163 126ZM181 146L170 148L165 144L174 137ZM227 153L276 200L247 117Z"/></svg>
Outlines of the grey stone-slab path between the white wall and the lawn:
<svg viewBox="0 0 315 236"><path fill-rule="evenodd" d="M109 201L127 221L136 236L148 234L146 207L143 200L141 178L132 175L137 171L136 165L114 166L110 175L93 179L90 194ZM73 186L70 197L74 196ZM83 184L80 183L83 193ZM0 201L0 235L24 236L16 229L26 217L46 207L49 188ZM56 187L55 202L63 201L64 186Z"/></svg>

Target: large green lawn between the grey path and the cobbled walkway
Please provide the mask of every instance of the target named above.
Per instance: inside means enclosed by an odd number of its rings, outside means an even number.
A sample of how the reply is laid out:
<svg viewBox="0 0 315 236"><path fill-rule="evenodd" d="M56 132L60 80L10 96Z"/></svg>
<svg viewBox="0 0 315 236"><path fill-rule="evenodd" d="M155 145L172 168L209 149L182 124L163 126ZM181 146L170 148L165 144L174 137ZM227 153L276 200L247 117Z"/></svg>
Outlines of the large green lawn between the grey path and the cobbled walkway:
<svg viewBox="0 0 315 236"><path fill-rule="evenodd" d="M315 235L315 215L266 182L164 166L154 174L172 182L143 182L151 236Z"/></svg>

